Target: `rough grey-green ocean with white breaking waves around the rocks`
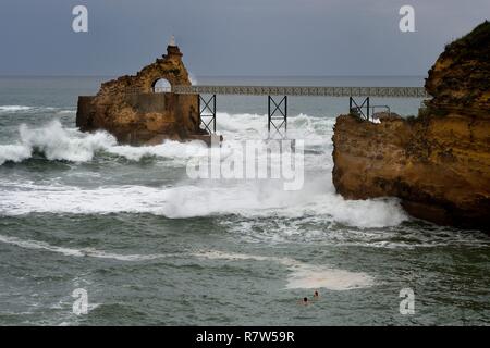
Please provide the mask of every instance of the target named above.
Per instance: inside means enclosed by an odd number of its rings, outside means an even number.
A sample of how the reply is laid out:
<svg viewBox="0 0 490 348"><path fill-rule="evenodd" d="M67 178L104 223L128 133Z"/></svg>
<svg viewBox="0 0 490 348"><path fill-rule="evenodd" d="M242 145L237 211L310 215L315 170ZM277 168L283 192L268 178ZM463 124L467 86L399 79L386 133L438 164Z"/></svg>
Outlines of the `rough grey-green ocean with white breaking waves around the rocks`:
<svg viewBox="0 0 490 348"><path fill-rule="evenodd" d="M118 145L75 126L109 77L0 78L0 325L488 325L490 237L344 200L346 98L290 97L304 185L192 178L198 141ZM422 86L422 77L197 77L198 84ZM373 99L402 115L420 99ZM224 153L267 137L267 97L217 97ZM258 161L267 151L258 151ZM270 164L273 165L273 164ZM308 306L298 301L320 296ZM86 312L74 310L86 295ZM413 291L414 311L401 311ZM402 294L402 296L401 296ZM402 303L402 304L401 304Z"/></svg>

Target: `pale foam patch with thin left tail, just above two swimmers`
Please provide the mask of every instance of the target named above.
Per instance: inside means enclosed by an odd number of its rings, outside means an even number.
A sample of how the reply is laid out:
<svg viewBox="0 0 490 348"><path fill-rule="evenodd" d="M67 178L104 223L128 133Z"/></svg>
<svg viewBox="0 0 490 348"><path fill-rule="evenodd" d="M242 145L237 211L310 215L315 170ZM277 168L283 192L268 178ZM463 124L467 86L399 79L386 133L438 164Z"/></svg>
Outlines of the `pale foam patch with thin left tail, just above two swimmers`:
<svg viewBox="0 0 490 348"><path fill-rule="evenodd" d="M346 270L332 269L327 265L314 265L291 258L264 257L245 253L222 252L217 250L198 251L192 256L211 260L243 261L253 260L261 262L277 262L290 270L286 288L329 290L350 290L373 286L375 278L364 272L351 272Z"/></svg>

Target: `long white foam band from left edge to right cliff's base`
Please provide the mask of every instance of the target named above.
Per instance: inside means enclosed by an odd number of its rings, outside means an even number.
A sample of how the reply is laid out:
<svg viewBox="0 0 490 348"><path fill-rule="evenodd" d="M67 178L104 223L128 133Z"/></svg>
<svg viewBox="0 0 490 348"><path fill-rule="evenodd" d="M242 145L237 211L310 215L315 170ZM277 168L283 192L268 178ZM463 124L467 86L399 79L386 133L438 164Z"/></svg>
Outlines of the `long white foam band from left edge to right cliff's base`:
<svg viewBox="0 0 490 348"><path fill-rule="evenodd" d="M0 183L1 184L1 183ZM53 213L152 213L171 219L240 214L243 216L294 217L315 214L346 225L379 227L396 225L407 219L396 201L347 201L306 183L299 191L283 191L274 183L236 185L183 185L176 187L117 186L81 189L53 189L29 184L29 189L0 192L0 213L19 215L32 212Z"/></svg>

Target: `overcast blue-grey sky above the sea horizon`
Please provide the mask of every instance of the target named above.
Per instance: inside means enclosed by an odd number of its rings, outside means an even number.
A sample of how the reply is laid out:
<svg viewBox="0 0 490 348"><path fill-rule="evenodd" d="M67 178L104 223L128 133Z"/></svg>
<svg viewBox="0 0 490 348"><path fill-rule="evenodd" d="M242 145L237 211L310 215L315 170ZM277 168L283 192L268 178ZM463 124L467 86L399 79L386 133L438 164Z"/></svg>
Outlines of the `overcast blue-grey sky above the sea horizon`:
<svg viewBox="0 0 490 348"><path fill-rule="evenodd" d="M489 0L1 0L0 75L134 74L174 35L195 76L425 76L489 17Z"/></svg>

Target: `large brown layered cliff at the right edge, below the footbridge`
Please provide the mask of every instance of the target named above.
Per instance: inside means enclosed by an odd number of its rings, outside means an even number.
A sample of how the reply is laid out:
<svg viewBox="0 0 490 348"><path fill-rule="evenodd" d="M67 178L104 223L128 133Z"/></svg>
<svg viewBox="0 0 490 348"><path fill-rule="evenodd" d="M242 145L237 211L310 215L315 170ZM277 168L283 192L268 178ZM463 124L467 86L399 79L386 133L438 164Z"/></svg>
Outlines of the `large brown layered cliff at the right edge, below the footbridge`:
<svg viewBox="0 0 490 348"><path fill-rule="evenodd" d="M350 199L399 197L413 216L489 231L490 23L446 46L415 119L338 117L333 184Z"/></svg>

